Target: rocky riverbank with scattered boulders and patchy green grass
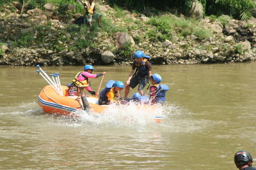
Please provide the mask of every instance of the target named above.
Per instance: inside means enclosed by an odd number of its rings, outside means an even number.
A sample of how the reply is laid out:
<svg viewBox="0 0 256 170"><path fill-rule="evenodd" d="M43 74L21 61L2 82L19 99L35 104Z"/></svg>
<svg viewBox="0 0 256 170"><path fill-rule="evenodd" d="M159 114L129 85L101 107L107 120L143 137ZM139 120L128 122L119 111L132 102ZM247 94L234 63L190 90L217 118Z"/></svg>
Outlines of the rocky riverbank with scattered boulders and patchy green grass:
<svg viewBox="0 0 256 170"><path fill-rule="evenodd" d="M186 18L175 11L143 13L97 4L103 27L74 24L79 4L23 10L15 4L0 13L0 64L76 66L131 64L143 50L153 64L208 64L256 60L256 20L226 15ZM65 8L64 8L65 7ZM63 9L65 12L63 12Z"/></svg>

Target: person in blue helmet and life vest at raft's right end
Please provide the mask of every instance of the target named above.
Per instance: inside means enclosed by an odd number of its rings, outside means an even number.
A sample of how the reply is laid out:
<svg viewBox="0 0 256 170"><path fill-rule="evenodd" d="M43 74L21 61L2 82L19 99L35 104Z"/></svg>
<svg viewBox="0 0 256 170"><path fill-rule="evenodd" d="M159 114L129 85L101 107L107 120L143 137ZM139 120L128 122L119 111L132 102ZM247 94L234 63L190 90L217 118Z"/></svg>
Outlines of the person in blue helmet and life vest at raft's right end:
<svg viewBox="0 0 256 170"><path fill-rule="evenodd" d="M150 76L149 99L151 104L163 104L165 101L166 91L169 90L168 85L161 83L162 77L159 74L152 74Z"/></svg>

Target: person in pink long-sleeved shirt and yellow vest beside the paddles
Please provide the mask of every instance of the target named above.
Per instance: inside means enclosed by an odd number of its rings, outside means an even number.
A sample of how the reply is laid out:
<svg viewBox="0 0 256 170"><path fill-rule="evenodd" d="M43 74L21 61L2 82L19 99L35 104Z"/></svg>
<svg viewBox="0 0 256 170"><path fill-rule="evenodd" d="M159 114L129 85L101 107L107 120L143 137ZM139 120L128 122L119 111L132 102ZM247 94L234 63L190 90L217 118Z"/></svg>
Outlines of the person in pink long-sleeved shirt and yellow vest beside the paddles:
<svg viewBox="0 0 256 170"><path fill-rule="evenodd" d="M106 74L105 71L99 74L92 74L93 66L86 65L84 66L84 71L80 71L76 74L75 78L72 80L71 85L69 85L69 94L68 96L78 96L78 89L77 87L84 87L90 94L97 95L95 91L92 90L90 87L89 78L97 78Z"/></svg>

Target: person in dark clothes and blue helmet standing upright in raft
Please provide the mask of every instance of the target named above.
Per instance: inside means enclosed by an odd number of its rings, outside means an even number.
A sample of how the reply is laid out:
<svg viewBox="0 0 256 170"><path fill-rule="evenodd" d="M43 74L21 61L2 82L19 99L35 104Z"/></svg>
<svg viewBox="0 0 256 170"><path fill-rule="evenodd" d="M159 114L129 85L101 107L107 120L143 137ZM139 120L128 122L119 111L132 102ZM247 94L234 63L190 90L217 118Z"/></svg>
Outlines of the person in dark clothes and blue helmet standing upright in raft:
<svg viewBox="0 0 256 170"><path fill-rule="evenodd" d="M143 89L148 83L148 78L152 75L152 67L149 61L150 57L148 55L145 55L141 51L137 51L134 53L134 58L135 60L132 64L131 73L129 74L129 78L125 84L125 97L128 96L130 87L134 89L137 85L139 85L138 90L141 96L143 96Z"/></svg>

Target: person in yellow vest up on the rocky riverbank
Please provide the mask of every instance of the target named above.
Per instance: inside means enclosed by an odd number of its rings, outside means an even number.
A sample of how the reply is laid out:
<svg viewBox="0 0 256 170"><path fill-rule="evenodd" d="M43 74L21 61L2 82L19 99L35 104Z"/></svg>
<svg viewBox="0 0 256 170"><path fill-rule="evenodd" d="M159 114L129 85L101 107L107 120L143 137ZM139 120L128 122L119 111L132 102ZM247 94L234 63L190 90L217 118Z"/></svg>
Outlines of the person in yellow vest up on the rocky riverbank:
<svg viewBox="0 0 256 170"><path fill-rule="evenodd" d="M96 12L95 3L93 3L93 0L89 0L89 1L85 0L84 9L85 9L84 22L86 21L88 25L92 27L92 18L93 18L95 20L98 20L99 27L102 27L101 14Z"/></svg>

